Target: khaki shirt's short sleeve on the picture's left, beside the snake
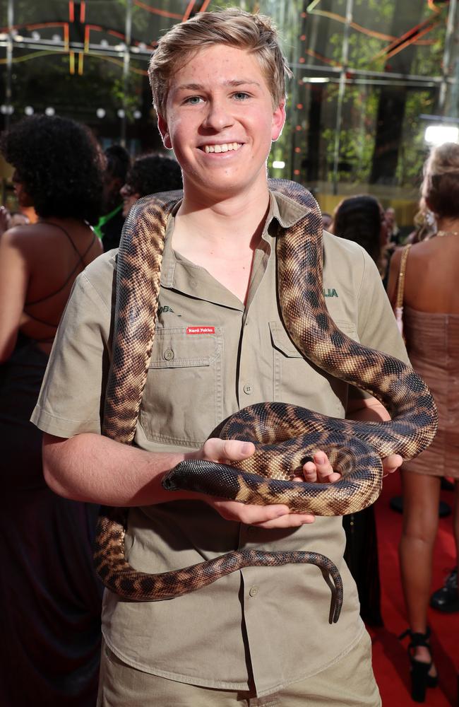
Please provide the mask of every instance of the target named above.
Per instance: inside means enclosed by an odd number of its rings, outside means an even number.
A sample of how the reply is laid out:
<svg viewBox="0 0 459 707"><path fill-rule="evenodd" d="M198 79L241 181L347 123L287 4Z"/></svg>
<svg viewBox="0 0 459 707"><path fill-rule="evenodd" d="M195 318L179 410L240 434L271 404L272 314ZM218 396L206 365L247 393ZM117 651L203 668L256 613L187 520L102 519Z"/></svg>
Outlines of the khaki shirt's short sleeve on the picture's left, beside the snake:
<svg viewBox="0 0 459 707"><path fill-rule="evenodd" d="M105 256L97 261L102 259ZM113 268L107 259L90 266L73 285L30 418L43 432L68 438L101 431L112 286Z"/></svg>

